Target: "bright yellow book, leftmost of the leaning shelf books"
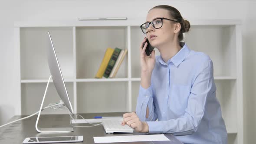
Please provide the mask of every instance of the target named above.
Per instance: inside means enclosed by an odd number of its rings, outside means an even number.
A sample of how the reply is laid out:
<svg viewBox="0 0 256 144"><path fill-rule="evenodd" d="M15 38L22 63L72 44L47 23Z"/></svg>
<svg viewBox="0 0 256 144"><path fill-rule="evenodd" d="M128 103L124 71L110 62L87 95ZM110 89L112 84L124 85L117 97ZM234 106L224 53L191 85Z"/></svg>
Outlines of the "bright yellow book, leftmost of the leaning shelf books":
<svg viewBox="0 0 256 144"><path fill-rule="evenodd" d="M104 58L102 59L102 63L100 65L99 69L98 69L98 72L97 72L95 78L102 78L102 76L105 72L105 69L108 66L108 62L109 62L113 52L114 52L114 49L112 49L112 48L108 48L106 50Z"/></svg>

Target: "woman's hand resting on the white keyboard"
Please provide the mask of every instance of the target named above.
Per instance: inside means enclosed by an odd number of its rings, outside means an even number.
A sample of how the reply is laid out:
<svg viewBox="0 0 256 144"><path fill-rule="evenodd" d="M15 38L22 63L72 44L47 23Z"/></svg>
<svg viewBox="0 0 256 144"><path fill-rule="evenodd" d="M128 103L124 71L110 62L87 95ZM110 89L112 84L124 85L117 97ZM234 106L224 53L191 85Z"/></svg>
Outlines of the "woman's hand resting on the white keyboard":
<svg viewBox="0 0 256 144"><path fill-rule="evenodd" d="M124 120L122 122L122 125L127 124L131 128L135 129L135 131L137 132L148 133L149 128L147 122L140 121L138 115L136 115L135 112L125 113L123 115L123 118Z"/></svg>

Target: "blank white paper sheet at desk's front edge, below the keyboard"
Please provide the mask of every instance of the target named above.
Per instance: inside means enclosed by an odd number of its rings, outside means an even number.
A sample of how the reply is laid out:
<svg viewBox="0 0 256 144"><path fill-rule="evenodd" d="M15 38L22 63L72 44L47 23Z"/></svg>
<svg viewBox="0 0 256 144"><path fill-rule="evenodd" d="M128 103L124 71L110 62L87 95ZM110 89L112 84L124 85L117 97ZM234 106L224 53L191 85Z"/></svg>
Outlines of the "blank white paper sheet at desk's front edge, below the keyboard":
<svg viewBox="0 0 256 144"><path fill-rule="evenodd" d="M164 134L93 137L94 143L116 143L136 141L170 141Z"/></svg>

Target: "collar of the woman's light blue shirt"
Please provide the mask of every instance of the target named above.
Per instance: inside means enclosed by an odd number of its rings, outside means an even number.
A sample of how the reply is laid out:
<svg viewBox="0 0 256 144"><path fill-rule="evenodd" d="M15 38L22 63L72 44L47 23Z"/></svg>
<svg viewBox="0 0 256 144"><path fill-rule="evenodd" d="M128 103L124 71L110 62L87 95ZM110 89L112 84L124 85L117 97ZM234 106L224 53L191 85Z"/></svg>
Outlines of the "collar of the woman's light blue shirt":
<svg viewBox="0 0 256 144"><path fill-rule="evenodd" d="M171 59L167 61L167 63L172 62L176 67L181 64L181 62L187 57L187 55L190 53L190 49L188 48L187 44L184 42L181 42L181 48L180 51L178 51ZM160 61L162 65L166 65L162 57L160 56Z"/></svg>

